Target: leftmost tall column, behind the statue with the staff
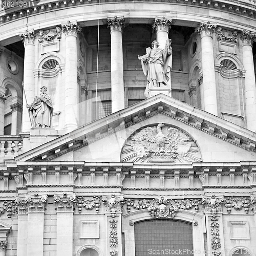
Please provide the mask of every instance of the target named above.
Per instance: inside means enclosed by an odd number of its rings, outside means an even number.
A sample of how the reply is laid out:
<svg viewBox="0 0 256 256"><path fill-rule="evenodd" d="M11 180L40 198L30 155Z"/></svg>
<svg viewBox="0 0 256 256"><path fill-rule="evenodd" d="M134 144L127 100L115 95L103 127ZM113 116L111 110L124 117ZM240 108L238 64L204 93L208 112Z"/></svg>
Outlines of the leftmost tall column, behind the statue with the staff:
<svg viewBox="0 0 256 256"><path fill-rule="evenodd" d="M32 103L35 96L35 80L34 80L34 66L35 66L35 53L34 53L34 41L35 32L34 30L19 35L25 47L24 55L24 92L23 92L23 113L22 113L22 132L29 132L32 128L28 108L26 107L25 94L28 103Z"/></svg>

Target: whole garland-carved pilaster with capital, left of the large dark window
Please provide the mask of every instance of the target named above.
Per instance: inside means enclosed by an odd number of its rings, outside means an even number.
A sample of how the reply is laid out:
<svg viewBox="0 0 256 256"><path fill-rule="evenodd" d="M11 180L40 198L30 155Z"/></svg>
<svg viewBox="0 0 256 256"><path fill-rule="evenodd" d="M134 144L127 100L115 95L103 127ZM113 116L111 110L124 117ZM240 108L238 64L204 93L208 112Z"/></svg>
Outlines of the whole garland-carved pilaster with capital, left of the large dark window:
<svg viewBox="0 0 256 256"><path fill-rule="evenodd" d="M106 237L109 237L106 255L118 256L122 254L121 210L123 196L103 196L102 202L105 205Z"/></svg>

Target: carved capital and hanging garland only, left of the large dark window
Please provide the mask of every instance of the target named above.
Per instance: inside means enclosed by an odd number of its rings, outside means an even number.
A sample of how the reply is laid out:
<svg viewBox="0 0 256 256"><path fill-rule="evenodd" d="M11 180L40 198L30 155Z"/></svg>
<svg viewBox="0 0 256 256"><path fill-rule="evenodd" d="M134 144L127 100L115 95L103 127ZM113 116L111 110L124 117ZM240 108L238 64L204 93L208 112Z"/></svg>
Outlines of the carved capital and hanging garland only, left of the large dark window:
<svg viewBox="0 0 256 256"><path fill-rule="evenodd" d="M122 210L124 203L123 195L115 196L103 196L102 202L105 205L107 211L110 212L109 219L109 245L110 245L110 256L118 256L118 231L117 231L117 212Z"/></svg>

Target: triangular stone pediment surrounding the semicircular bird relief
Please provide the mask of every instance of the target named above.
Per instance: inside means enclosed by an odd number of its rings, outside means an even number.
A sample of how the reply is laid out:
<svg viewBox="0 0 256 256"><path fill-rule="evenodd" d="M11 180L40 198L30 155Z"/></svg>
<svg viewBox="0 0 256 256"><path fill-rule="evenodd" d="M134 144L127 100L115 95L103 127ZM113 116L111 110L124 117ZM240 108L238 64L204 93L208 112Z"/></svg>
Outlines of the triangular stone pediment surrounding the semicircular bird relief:
<svg viewBox="0 0 256 256"><path fill-rule="evenodd" d="M17 156L16 162L93 162L96 159L97 147L104 145L108 152L108 144L113 143L118 144L113 149L113 154L117 154L119 158L113 158L113 161L118 162L127 138L143 126L158 123L180 127L187 134L195 134L192 136L195 141L203 136L205 140L212 140L212 143L220 143L224 151L245 152L248 160L256 160L256 136L252 131L172 97L158 94L35 147ZM88 150L85 148L90 148L94 154L87 154ZM95 161L101 161L100 159L109 158L102 156Z"/></svg>

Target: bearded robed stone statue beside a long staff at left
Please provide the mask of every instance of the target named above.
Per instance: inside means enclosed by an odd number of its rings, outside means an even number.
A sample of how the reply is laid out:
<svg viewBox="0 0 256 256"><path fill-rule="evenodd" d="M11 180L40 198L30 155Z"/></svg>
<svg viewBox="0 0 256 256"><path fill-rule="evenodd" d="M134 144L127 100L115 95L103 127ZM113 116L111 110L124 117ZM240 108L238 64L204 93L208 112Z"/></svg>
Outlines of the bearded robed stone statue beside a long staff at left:
<svg viewBox="0 0 256 256"><path fill-rule="evenodd" d="M45 86L40 88L40 95L35 96L33 103L27 104L30 120L34 128L52 127L53 106Z"/></svg>

